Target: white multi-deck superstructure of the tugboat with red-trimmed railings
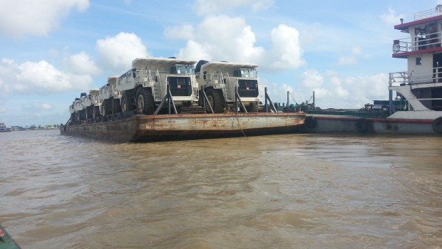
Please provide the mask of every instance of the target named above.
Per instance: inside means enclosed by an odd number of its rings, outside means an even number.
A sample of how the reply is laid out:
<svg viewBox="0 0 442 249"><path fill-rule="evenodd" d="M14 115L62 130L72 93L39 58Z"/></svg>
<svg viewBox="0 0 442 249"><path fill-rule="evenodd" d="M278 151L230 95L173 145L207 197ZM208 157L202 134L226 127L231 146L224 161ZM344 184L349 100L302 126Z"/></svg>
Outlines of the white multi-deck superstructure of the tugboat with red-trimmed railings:
<svg viewBox="0 0 442 249"><path fill-rule="evenodd" d="M442 5L414 14L394 26L408 37L393 41L393 58L406 58L408 70L389 73L390 103L408 102L406 110L390 105L389 118L436 120L442 116Z"/></svg>

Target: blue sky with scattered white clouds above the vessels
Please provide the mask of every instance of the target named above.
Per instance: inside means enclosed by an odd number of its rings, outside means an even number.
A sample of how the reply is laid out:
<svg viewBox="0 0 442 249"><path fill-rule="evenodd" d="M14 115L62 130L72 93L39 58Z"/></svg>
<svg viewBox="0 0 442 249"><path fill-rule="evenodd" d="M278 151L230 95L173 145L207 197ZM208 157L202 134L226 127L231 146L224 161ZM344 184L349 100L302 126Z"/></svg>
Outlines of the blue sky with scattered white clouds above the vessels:
<svg viewBox="0 0 442 249"><path fill-rule="evenodd" d="M388 100L400 18L440 1L0 0L0 122L66 123L81 92L140 57L255 63L273 102Z"/></svg>

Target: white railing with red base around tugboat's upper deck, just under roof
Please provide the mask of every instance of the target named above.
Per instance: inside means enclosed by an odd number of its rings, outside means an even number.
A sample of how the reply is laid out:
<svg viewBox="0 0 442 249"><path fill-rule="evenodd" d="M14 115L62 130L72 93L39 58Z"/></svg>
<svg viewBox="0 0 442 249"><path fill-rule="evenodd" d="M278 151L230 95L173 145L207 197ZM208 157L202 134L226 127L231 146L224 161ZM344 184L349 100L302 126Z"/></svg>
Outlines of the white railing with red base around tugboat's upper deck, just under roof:
<svg viewBox="0 0 442 249"><path fill-rule="evenodd" d="M415 41L410 38L403 38L393 41L393 53L406 53L411 51L421 51L428 48L441 47L442 32L428 33L425 37L417 37Z"/></svg>

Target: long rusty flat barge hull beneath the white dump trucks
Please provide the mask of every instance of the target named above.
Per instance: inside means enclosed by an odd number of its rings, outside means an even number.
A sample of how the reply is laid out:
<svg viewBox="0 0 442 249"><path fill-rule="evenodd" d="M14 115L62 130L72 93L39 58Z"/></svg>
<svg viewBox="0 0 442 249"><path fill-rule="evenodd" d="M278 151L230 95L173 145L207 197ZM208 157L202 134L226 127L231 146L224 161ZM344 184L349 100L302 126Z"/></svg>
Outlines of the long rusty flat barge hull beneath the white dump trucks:
<svg viewBox="0 0 442 249"><path fill-rule="evenodd" d="M115 142L153 142L297 132L304 112L135 115L122 120L62 125L61 134Z"/></svg>

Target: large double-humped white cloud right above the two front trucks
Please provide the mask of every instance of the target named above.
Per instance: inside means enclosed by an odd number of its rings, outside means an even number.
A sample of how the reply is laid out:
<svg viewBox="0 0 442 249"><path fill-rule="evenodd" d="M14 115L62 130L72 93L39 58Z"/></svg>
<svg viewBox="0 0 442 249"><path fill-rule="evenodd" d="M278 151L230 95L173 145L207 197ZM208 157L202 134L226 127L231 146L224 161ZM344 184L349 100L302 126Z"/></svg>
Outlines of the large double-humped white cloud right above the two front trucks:
<svg viewBox="0 0 442 249"><path fill-rule="evenodd" d="M255 33L243 18L209 16L197 28L187 27L187 31L190 30L194 33L187 36L187 45L180 49L178 58L257 63L262 71L294 69L304 65L296 28L286 25L274 28L270 33L272 48L268 51L255 46Z"/></svg>

